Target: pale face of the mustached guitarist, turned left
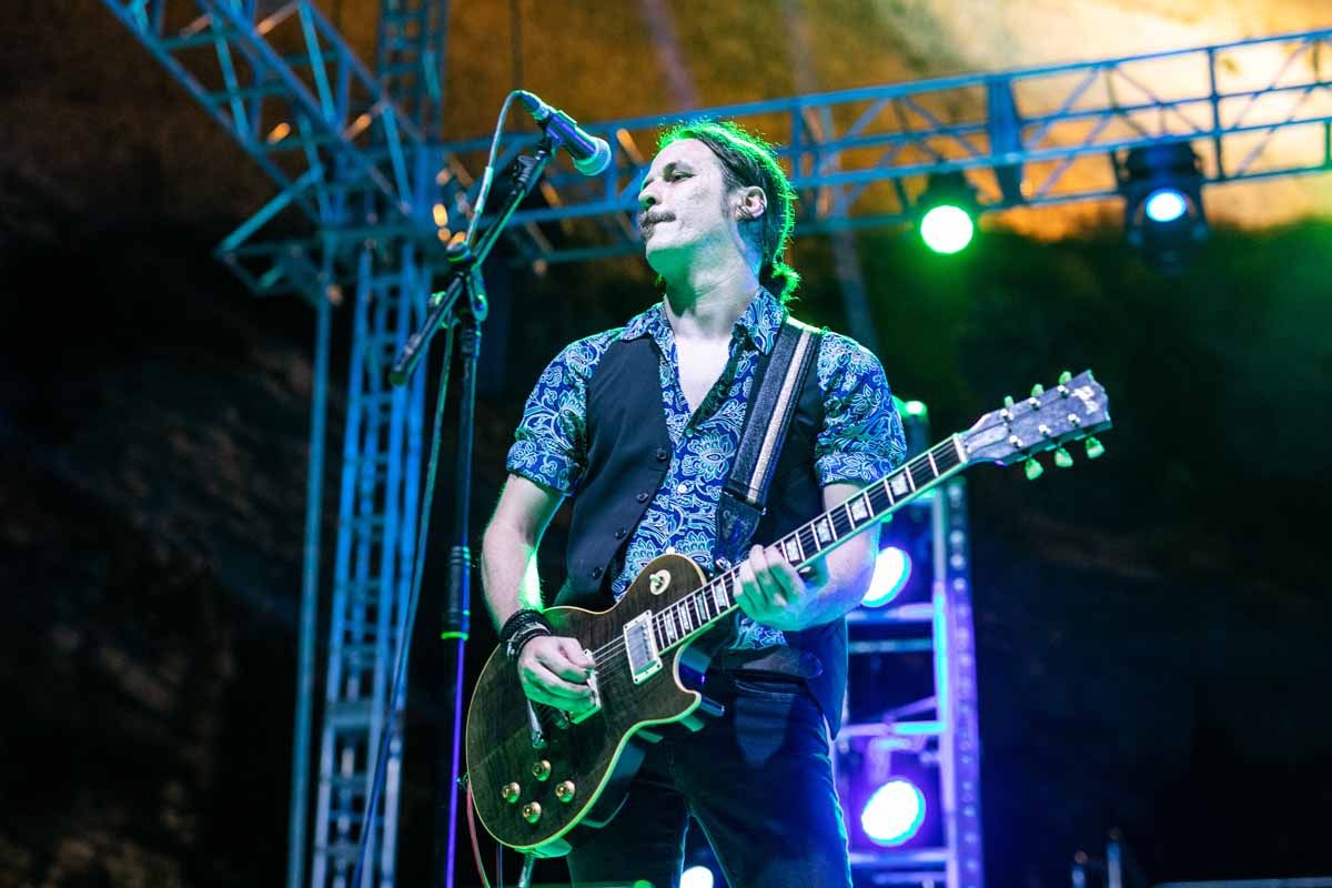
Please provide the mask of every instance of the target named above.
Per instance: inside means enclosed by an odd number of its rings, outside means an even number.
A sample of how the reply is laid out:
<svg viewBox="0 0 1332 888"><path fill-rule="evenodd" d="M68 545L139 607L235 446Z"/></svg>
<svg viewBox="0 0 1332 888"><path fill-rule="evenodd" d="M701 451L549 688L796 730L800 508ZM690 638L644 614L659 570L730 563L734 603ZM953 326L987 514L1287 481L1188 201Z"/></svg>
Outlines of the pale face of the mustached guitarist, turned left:
<svg viewBox="0 0 1332 888"><path fill-rule="evenodd" d="M638 193L638 221L647 264L659 274L719 249L741 249L735 209L722 164L697 138L661 150Z"/></svg>

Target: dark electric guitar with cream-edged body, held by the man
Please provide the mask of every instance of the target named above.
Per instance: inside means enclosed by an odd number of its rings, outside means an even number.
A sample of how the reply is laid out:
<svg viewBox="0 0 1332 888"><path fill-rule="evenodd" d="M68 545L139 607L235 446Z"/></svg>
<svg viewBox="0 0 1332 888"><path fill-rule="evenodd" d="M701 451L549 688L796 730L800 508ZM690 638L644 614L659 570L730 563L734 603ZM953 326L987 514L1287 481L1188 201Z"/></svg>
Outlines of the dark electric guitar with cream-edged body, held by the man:
<svg viewBox="0 0 1332 888"><path fill-rule="evenodd" d="M839 506L777 541L791 564L803 567L892 514L922 491L978 462L1027 462L1110 427L1106 393L1086 371L1060 377L1050 391L980 417L871 483ZM577 833L605 825L625 800L646 743L662 726L697 728L717 706L686 683L702 674L710 652L698 644L709 628L735 611L738 571L711 579L689 558L662 555L650 562L607 611L553 607L545 612L557 635L578 639L597 660L597 706L569 722L550 707L530 703L518 671L497 650L477 682L468 712L468 781L477 815L497 841L541 857L567 853Z"/></svg>

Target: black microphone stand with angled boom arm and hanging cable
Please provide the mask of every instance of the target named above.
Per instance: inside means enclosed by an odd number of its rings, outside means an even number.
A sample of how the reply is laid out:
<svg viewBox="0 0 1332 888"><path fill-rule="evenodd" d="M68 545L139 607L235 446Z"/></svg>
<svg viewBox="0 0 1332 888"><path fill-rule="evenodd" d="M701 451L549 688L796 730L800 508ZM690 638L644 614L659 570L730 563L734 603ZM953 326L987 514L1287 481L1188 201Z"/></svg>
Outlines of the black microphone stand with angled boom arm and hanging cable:
<svg viewBox="0 0 1332 888"><path fill-rule="evenodd" d="M550 162L554 153L559 150L562 140L558 134L546 132L545 138L537 145L534 156L521 156L514 161L513 182L505 196L500 212L496 213L490 226L481 233L476 245L460 244L449 248L449 261L452 269L445 288L430 296L432 306L425 324L412 334L402 351L398 354L389 371L389 379L396 386L406 383L425 357L426 347L441 329L457 325L461 332L462 353L462 394L458 403L458 434L457 434L457 461L454 466L454 542L449 547L449 592L444 608L444 630L441 639L452 642L452 663L454 666L453 682L453 720L449 763L449 817L444 836L436 835L434 860L437 868L437 884L442 888L453 888L454 869L457 863L457 835L458 835L458 788L460 762L462 751L462 696L464 674L466 668L466 643L470 631L470 588L472 588L472 551L468 546L468 529L472 521L472 438L473 422L476 417L477 395L477 358L481 353L481 322L486 318L486 292L485 281L481 276L481 264L490 256L496 241L503 232L509 217L518 209L518 205L533 192L541 173ZM444 378L448 378L449 367L445 366ZM442 385L442 383L441 383ZM442 393L441 393L442 394ZM444 398L440 398L442 407ZM436 442L438 443L438 442ZM434 454L432 454L432 459ZM429 491L426 491L429 497ZM429 498L425 499L429 502ZM426 535L425 526L429 515L422 514L420 527L422 529L418 546L424 547ZM369 848L370 824L382 792L388 764L389 739L393 731L393 712L397 711L398 696L408 671L408 655L410 638L416 626L416 611L418 595L416 594L421 583L422 566L425 563L424 551L417 553L416 575L412 578L413 595L404 615L404 634L400 638L400 656L397 662L397 675L393 680L393 695L385 714L385 730L380 736L380 750L376 756L374 779L370 785L370 795L366 800L365 827L361 831L361 847L357 855L356 873L352 881L353 888L361 888L365 853ZM441 756L442 758L442 756ZM441 763L442 764L442 763ZM440 844L444 843L442 867Z"/></svg>

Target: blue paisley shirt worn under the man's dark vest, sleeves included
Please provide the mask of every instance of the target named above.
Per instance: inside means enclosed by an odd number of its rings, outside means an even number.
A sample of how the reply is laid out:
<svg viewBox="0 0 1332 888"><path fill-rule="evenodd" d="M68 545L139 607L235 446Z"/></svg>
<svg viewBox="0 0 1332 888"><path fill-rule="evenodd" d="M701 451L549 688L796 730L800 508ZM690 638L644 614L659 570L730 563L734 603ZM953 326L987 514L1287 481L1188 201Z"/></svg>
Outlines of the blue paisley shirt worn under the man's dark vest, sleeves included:
<svg viewBox="0 0 1332 888"><path fill-rule="evenodd" d="M735 322L730 359L698 410L690 413L679 385L675 335L661 302L627 325L565 347L527 398L509 450L509 471L571 495L586 467L587 381L615 339L651 337L662 355L659 379L671 461L661 489L627 543L623 570L611 582L618 598L638 572L663 553L678 553L711 568L717 503L731 471L745 423L745 406L759 355L777 339L786 309L761 290ZM822 338L815 365L823 393L823 429L815 438L821 485L876 481L906 454L902 421L883 367L871 351L836 333ZM785 643L781 631L741 615L737 647Z"/></svg>

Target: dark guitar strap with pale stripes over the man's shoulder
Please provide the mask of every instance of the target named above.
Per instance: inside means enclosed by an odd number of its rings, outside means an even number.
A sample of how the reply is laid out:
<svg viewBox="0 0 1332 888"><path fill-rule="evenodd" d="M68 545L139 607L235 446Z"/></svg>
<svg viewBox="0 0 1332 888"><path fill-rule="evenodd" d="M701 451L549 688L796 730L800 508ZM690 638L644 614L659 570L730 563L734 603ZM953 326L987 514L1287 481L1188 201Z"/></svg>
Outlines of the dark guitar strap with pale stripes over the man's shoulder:
<svg viewBox="0 0 1332 888"><path fill-rule="evenodd" d="M763 517L782 443L822 338L822 330L787 316L758 369L735 466L717 503L717 560L722 570L743 556Z"/></svg>

